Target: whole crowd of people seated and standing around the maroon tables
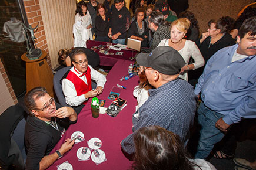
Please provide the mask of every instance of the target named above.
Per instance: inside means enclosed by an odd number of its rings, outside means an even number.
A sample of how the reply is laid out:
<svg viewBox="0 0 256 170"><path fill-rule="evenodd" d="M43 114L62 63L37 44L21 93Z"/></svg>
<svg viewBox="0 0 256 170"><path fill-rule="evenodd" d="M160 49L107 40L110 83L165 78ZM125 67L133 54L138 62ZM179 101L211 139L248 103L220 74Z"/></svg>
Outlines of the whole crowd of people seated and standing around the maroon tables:
<svg viewBox="0 0 256 170"><path fill-rule="evenodd" d="M177 18L162 0L155 6L136 0L134 8L132 19L124 0L114 0L112 6L108 0L104 4L81 1L74 25L75 39L81 38L79 33L87 39L94 35L96 40L121 44L132 38L148 47L147 53L136 57L140 82L134 96L138 105L131 117L132 134L120 143L122 151L134 155L132 169L215 169L205 161L214 145L232 124L256 118L256 16L245 9L247 17L242 14L237 22L228 16L210 20L207 32L198 38L197 19L190 11L179 11L181 18ZM35 87L25 96L30 115L25 128L26 169L45 169L72 148L74 140L68 138L49 155L65 128L76 123L88 99L104 90L107 79L88 64L89 49L84 45L84 39L77 39L74 49L59 51L61 62L72 66L61 80L71 107L59 106L43 87ZM95 89L92 80L97 83ZM199 140L191 157L187 147L194 121ZM223 152L215 157L229 156L220 154ZM255 162L234 162L256 169Z"/></svg>

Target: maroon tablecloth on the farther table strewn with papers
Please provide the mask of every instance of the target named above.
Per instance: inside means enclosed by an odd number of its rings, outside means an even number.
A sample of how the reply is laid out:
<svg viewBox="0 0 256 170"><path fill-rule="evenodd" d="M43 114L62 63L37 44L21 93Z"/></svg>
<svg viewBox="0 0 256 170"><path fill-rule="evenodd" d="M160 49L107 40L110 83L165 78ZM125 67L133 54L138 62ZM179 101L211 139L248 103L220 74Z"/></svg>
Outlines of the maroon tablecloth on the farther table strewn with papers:
<svg viewBox="0 0 256 170"><path fill-rule="evenodd" d="M91 49L92 46L99 46L99 45L107 45L107 42L99 42L95 40L87 40L87 48ZM115 45L115 44L113 44ZM105 55L102 53L99 53L99 49L96 51L99 55L99 58L101 59L101 66L114 66L114 64L122 59L122 60L130 60L130 57L134 57L137 53L135 50L121 50L120 52L123 52L122 56L121 55L115 55L116 50L110 49L108 52L109 53L114 53L114 55Z"/></svg>

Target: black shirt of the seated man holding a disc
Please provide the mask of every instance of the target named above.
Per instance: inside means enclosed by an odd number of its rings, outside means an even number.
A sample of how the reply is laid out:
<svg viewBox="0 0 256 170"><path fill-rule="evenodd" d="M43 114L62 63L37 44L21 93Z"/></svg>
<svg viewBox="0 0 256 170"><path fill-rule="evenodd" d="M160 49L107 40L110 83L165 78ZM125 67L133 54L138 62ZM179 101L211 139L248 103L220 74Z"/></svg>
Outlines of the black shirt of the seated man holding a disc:
<svg viewBox="0 0 256 170"><path fill-rule="evenodd" d="M61 106L56 103L56 107L60 108ZM52 117L52 120L54 120L54 117ZM39 162L45 155L49 155L58 143L64 127L67 128L69 124L75 122L69 121L68 118L56 118L59 128L59 130L56 130L45 121L29 116L25 125L25 146L28 151L25 169L39 169Z"/></svg>

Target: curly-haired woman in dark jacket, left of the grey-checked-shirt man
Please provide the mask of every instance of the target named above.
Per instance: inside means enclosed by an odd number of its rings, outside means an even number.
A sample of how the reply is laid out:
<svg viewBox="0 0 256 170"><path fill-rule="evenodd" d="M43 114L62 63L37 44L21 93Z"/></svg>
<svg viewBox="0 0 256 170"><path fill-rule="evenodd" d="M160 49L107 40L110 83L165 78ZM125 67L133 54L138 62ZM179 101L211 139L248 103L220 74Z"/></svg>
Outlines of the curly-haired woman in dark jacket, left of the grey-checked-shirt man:
<svg viewBox="0 0 256 170"><path fill-rule="evenodd" d="M138 8L135 12L135 21L131 23L128 30L128 38L141 41L142 47L148 47L148 28L147 23L144 20L145 10Z"/></svg>

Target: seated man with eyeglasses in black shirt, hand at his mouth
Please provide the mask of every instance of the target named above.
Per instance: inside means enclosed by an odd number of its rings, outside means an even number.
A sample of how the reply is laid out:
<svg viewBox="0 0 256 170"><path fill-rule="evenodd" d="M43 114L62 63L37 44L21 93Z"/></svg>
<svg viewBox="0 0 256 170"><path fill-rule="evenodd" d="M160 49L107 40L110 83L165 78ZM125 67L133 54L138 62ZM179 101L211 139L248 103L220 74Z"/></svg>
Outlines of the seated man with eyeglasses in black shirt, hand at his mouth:
<svg viewBox="0 0 256 170"><path fill-rule="evenodd" d="M44 87L29 91L24 103L29 113L25 125L25 169L46 169L74 145L74 140L67 138L61 148L49 155L69 124L77 122L77 113L72 107L55 103Z"/></svg>

